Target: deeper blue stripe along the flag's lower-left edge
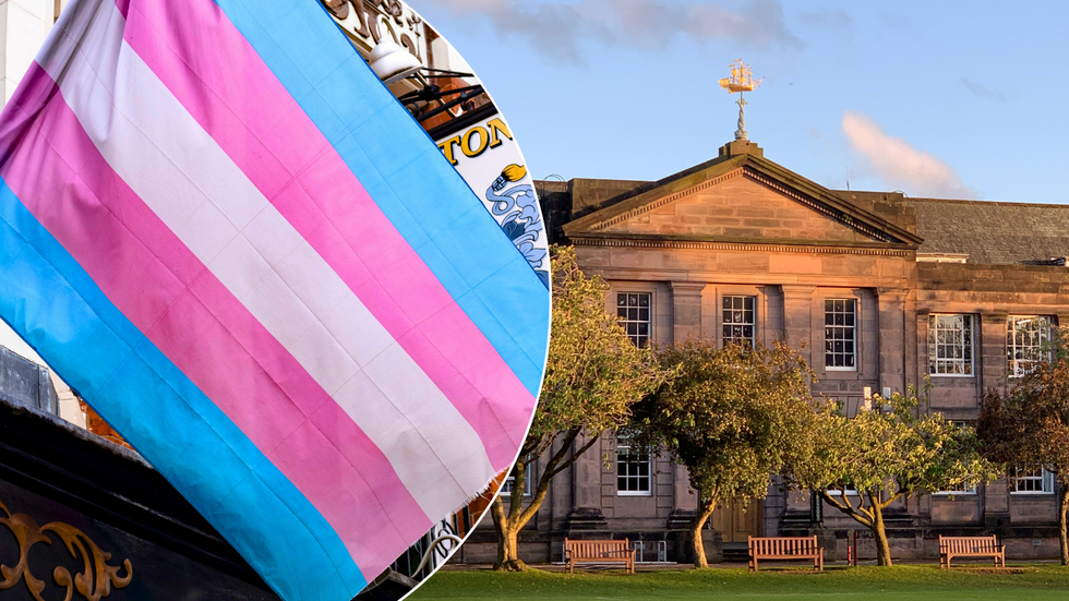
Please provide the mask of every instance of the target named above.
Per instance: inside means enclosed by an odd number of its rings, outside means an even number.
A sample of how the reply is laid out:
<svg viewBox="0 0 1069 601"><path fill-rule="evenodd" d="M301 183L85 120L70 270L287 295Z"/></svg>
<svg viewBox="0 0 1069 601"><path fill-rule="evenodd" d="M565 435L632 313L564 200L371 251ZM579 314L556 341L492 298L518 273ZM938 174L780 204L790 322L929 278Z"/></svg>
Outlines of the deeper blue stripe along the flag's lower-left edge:
<svg viewBox="0 0 1069 601"><path fill-rule="evenodd" d="M281 597L338 601L367 586L319 510L105 297L2 180L0 277L0 317L153 457Z"/></svg>

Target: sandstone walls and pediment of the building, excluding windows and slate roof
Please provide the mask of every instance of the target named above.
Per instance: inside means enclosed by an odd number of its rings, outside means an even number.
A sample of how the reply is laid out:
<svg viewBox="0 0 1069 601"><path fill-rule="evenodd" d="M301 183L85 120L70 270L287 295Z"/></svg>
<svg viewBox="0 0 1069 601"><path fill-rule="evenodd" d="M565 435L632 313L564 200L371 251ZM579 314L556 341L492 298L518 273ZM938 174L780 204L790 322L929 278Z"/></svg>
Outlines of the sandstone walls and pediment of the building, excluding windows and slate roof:
<svg viewBox="0 0 1069 601"><path fill-rule="evenodd" d="M759 149L742 151L761 156ZM984 390L1006 382L1008 315L1050 315L1069 324L1066 267L917 263L915 240L880 242L862 233L863 228L852 227L854 217L845 218L853 211L849 206L829 202L846 212L829 214L828 206L805 201L806 194L819 192L814 192L816 184L792 189L802 178L783 170L785 179L766 185L746 175L748 167L735 155L726 153L654 183L546 182L554 215L587 215L570 223L568 236L584 271L610 284L606 310L615 311L616 293L651 295L653 341L689 336L719 345L723 298L756 297L756 339L784 340L802 349L816 372L814 392L842 400L853 413L866 393L904 392L910 385L923 390L929 315L968 313L975 322L974 373L932 376L927 408L971 421ZM719 171L710 175L707 169ZM761 177L774 179L778 172L769 168ZM918 229L915 208L900 193L825 192L856 207L856 218L899 228L888 240L906 239L903 231ZM857 303L858 353L851 371L824 364L825 301L842 298ZM586 537L663 540L670 560L689 561L686 524L696 501L686 470L659 458L653 494L626 497L615 492L614 459L606 437L600 450L554 481L550 498L521 538L529 558L556 561L564 537ZM1055 498L1014 493L1004 479L975 493L899 500L887 510L892 554L934 558L940 533L996 533L1011 557L1056 556ZM808 494L786 494L773 485L762 504L764 533L815 533L829 560L845 558L848 534L860 525L828 505L818 509L822 519L814 522ZM468 543L468 553L492 558L492 532L478 536L483 538L476 544L482 546ZM710 557L722 557L731 545L719 532L709 537ZM875 557L865 534L860 545L862 558Z"/></svg>

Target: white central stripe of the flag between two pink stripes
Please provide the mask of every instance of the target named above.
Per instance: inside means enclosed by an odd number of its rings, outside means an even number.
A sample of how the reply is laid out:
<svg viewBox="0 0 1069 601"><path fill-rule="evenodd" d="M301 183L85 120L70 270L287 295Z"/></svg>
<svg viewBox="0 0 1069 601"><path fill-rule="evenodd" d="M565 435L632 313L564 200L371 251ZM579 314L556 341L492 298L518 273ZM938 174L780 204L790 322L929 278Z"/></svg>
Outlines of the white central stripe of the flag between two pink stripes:
<svg viewBox="0 0 1069 601"><path fill-rule="evenodd" d="M383 450L428 517L455 509L458 488L479 494L493 468L477 432L122 40L113 1L96 1L110 10L93 31L40 60L107 161Z"/></svg>

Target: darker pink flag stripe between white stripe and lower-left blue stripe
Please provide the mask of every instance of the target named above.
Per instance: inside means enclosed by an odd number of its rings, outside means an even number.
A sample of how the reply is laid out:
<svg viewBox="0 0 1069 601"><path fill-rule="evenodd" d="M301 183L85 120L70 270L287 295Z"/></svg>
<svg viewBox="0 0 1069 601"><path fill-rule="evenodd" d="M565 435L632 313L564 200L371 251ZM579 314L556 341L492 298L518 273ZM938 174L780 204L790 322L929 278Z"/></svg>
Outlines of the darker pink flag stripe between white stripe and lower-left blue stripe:
<svg viewBox="0 0 1069 601"><path fill-rule="evenodd" d="M344 412L329 395L115 173L37 63L22 85L41 91L23 97L44 99L48 89L55 97L43 110L22 107L40 111L29 132L36 137L20 141L0 176L108 299L323 514L358 565L388 565L432 522L386 457L352 420L338 418ZM316 428L323 432L311 432ZM355 537L380 542L362 548Z"/></svg>

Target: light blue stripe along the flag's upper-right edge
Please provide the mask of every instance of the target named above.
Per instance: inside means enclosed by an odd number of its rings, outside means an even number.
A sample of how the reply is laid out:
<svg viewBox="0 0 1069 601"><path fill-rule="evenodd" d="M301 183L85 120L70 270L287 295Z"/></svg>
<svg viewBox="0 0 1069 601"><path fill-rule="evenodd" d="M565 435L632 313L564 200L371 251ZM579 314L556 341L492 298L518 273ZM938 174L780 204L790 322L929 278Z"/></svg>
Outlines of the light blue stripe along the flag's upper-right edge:
<svg viewBox="0 0 1069 601"><path fill-rule="evenodd" d="M437 146L317 1L215 2L520 382L538 395L549 293ZM449 199L463 201L443 202ZM531 300L539 298L545 302L534 303L532 311Z"/></svg>

